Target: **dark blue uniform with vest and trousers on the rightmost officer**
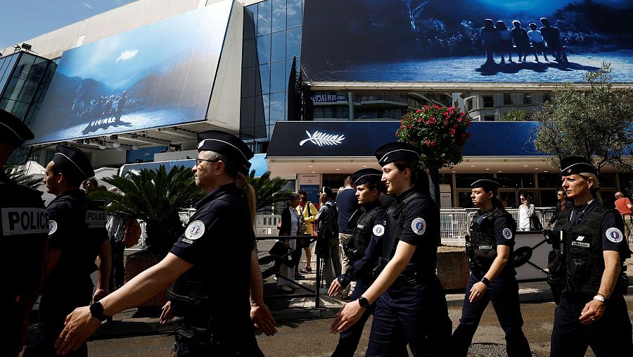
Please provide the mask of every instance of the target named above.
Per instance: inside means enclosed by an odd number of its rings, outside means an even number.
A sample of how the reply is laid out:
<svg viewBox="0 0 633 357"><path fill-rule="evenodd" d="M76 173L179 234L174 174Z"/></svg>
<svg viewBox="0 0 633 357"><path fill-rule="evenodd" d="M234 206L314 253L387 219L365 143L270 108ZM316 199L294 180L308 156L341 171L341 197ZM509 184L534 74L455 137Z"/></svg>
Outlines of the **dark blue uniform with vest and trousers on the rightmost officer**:
<svg viewBox="0 0 633 357"><path fill-rule="evenodd" d="M570 219L571 218L571 219ZM596 356L633 356L632 326L618 280L602 318L589 325L578 320L584 306L598 293L604 272L603 251L619 251L629 257L622 217L612 208L592 200L563 211L556 222L563 231L565 288L554 314L550 356L584 356L587 346Z"/></svg>

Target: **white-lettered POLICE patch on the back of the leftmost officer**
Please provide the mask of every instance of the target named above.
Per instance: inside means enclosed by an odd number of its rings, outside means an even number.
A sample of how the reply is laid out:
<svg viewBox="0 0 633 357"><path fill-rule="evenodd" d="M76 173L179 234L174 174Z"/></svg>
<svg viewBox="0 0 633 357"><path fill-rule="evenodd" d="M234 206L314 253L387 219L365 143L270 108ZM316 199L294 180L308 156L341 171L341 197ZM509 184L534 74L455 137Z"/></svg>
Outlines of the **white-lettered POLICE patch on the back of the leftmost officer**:
<svg viewBox="0 0 633 357"><path fill-rule="evenodd" d="M44 208L1 208L2 234L34 234L49 232L49 214Z"/></svg>

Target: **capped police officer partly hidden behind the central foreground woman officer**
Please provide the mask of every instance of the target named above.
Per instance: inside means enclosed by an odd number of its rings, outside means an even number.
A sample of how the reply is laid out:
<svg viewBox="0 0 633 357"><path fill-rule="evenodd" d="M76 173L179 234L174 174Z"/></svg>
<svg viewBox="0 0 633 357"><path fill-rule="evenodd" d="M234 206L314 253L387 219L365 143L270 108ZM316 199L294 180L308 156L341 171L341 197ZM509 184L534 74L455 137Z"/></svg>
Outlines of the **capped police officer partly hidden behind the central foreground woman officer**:
<svg viewBox="0 0 633 357"><path fill-rule="evenodd" d="M335 296L343 291L351 282L357 282L351 296L352 300L356 300L373 283L373 269L376 268L378 257L381 256L385 235L385 208L381 206L379 197L386 193L387 189L381 179L381 171L374 168L358 170L350 177L357 188L354 189L356 192L354 198L357 198L360 206L359 210L352 215L350 226L354 228L346 244L347 256L350 256L352 265L343 275L332 282L328 290L330 296ZM338 195L340 196L340 192ZM338 344L332 357L354 356L365 322L375 307L376 303L371 304L358 322L349 329L340 332ZM404 345L401 347L399 356L408 356L407 347Z"/></svg>

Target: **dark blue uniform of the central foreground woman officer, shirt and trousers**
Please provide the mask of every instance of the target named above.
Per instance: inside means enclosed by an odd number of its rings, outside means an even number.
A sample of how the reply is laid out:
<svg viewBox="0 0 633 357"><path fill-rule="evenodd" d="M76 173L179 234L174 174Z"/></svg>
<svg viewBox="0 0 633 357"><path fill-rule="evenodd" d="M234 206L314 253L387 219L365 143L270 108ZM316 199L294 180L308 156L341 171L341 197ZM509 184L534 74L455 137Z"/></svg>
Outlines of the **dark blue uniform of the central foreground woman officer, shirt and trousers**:
<svg viewBox="0 0 633 357"><path fill-rule="evenodd" d="M394 346L409 344L414 356L441 356L451 335L446 296L435 275L440 242L439 210L428 194L413 189L385 212L381 265L399 241L416 246L407 269L376 301L366 356L392 356Z"/></svg>

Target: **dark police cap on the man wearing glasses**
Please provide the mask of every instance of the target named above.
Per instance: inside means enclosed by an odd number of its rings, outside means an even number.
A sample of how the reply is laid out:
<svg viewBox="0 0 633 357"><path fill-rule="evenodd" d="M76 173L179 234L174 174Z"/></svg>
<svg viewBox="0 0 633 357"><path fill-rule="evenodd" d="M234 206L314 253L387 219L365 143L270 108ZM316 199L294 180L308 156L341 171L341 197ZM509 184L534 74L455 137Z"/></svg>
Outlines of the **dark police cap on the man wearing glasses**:
<svg viewBox="0 0 633 357"><path fill-rule="evenodd" d="M208 130L198 134L198 152L215 151L229 158L237 165L239 172L247 175L250 169L248 162L254 154L243 141L226 132Z"/></svg>

